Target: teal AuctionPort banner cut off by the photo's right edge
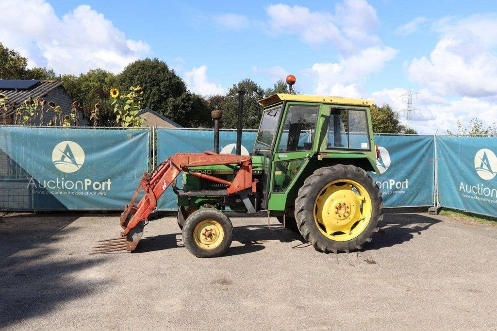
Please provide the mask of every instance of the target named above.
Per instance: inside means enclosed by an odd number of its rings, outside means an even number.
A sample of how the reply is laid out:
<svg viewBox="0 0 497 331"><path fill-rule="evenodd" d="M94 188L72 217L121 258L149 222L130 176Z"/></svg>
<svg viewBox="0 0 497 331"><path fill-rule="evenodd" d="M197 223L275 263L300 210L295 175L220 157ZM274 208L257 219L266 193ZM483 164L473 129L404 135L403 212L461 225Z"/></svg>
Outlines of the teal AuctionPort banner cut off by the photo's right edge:
<svg viewBox="0 0 497 331"><path fill-rule="evenodd" d="M438 199L443 207L497 215L497 137L437 137Z"/></svg>

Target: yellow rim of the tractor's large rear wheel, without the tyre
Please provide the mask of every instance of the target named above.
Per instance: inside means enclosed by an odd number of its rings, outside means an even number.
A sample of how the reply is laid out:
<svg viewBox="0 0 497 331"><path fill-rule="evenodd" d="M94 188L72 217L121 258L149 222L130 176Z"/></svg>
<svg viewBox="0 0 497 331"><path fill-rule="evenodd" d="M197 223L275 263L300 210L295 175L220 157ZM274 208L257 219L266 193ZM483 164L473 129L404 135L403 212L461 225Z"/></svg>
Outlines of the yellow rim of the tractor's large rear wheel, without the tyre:
<svg viewBox="0 0 497 331"><path fill-rule="evenodd" d="M337 179L319 192L313 210L321 233L331 240L345 242L358 237L368 226L371 197L355 180Z"/></svg>

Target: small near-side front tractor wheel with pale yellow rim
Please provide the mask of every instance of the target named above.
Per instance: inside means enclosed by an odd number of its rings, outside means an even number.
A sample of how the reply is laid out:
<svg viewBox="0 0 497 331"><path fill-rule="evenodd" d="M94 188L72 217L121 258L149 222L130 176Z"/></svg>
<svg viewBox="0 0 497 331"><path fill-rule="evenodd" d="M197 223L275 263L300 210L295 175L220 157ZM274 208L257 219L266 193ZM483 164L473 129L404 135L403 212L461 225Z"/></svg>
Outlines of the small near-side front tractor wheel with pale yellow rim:
<svg viewBox="0 0 497 331"><path fill-rule="evenodd" d="M197 257L220 256L230 248L233 225L217 209L204 208L193 212L183 227L185 247Z"/></svg>

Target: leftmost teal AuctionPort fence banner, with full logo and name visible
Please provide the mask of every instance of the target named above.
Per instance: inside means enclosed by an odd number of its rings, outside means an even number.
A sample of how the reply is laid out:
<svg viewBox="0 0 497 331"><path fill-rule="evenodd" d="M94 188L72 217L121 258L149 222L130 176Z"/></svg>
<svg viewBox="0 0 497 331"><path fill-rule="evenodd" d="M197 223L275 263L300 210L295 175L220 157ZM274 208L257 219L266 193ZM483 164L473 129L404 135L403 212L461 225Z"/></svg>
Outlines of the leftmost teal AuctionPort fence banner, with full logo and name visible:
<svg viewBox="0 0 497 331"><path fill-rule="evenodd" d="M0 209L121 210L148 158L148 129L1 126Z"/></svg>

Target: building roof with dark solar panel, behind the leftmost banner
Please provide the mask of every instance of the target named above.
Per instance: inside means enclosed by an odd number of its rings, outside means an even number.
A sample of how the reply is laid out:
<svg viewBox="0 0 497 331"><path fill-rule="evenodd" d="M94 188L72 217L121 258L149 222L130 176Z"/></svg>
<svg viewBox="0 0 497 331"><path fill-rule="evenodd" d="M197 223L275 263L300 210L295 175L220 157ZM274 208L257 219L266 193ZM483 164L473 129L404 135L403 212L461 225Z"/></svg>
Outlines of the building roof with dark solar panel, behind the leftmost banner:
<svg viewBox="0 0 497 331"><path fill-rule="evenodd" d="M32 82L36 83L30 85ZM58 81L0 80L0 94L4 94L10 104L15 102L20 105L30 96L33 99L40 98L61 85Z"/></svg>

